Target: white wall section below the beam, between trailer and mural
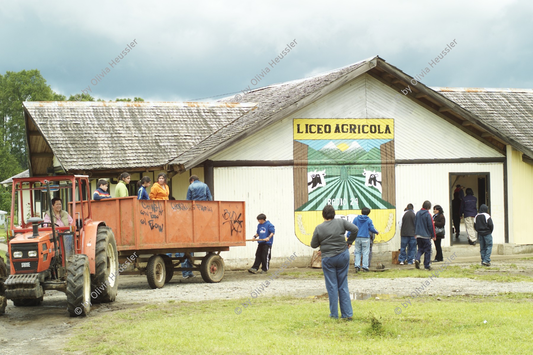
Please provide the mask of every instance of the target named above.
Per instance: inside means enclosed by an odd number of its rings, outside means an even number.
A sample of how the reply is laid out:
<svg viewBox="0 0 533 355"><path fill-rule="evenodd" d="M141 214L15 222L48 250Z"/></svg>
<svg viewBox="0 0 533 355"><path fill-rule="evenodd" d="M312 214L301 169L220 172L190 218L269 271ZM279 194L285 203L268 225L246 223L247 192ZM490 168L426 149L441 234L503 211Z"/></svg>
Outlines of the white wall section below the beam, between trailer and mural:
<svg viewBox="0 0 533 355"><path fill-rule="evenodd" d="M294 190L292 167L235 167L214 168L216 199L246 201L246 236L257 230L257 215L264 213L276 235L272 257L312 255L310 247L301 243L294 234ZM253 259L257 243L232 247L222 252L224 259Z"/></svg>

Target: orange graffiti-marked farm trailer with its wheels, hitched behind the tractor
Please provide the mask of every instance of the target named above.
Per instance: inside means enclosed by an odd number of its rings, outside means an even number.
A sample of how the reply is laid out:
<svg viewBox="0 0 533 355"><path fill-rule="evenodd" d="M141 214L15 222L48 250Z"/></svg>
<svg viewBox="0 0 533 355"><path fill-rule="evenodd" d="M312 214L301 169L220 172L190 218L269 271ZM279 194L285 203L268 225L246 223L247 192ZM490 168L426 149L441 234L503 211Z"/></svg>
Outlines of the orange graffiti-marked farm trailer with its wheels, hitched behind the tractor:
<svg viewBox="0 0 533 355"><path fill-rule="evenodd" d="M115 232L120 274L146 273L151 288L163 287L174 271L185 270L199 271L205 282L217 283L224 276L220 252L246 245L244 202L137 200L132 196L91 201L91 212L93 219L106 221ZM206 255L167 255L190 252ZM185 259L201 263L179 267Z"/></svg>

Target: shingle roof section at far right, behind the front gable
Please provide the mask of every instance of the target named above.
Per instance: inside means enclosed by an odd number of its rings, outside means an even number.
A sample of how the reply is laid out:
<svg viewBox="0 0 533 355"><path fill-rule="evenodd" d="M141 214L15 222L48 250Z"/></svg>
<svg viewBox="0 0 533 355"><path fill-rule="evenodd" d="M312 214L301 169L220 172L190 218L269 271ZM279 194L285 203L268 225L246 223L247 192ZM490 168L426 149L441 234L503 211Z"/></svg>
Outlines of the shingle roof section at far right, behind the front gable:
<svg viewBox="0 0 533 355"><path fill-rule="evenodd" d="M533 158L533 90L514 88L432 87L480 117L508 138L529 148Z"/></svg>

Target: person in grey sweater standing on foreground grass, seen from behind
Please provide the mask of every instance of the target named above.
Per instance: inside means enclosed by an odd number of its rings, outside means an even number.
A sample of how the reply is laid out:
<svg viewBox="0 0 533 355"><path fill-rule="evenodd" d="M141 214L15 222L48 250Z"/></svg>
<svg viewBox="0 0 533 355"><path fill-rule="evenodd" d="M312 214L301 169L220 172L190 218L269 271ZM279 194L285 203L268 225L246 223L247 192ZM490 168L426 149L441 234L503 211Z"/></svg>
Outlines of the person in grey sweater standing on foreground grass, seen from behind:
<svg viewBox="0 0 533 355"><path fill-rule="evenodd" d="M338 318L338 304L341 306L341 318L352 320L353 310L348 291L348 268L350 252L348 249L356 239L359 228L342 218L335 218L335 208L326 205L322 209L324 223L317 225L311 238L311 248L320 247L322 271L329 296L329 317ZM346 240L346 231L351 236Z"/></svg>

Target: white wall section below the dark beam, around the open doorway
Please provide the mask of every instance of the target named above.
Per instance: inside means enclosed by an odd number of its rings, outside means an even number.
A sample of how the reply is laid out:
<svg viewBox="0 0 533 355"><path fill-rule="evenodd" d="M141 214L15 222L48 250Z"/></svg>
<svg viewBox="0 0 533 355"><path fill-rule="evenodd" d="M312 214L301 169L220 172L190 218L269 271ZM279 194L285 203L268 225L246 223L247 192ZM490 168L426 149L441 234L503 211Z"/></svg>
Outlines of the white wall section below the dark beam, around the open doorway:
<svg viewBox="0 0 533 355"><path fill-rule="evenodd" d="M505 219L503 198L503 163L476 164L406 164L396 166L396 215L403 213L408 203L415 206L415 212L425 200L441 205L446 217L446 238L443 246L450 245L450 182L449 173L490 173L490 213L494 222L492 238L495 244L505 242ZM397 221L398 223L398 221ZM391 250L400 247L399 231L393 238Z"/></svg>

